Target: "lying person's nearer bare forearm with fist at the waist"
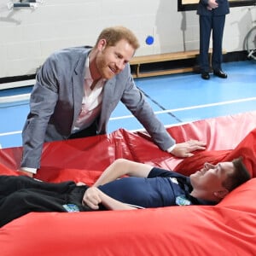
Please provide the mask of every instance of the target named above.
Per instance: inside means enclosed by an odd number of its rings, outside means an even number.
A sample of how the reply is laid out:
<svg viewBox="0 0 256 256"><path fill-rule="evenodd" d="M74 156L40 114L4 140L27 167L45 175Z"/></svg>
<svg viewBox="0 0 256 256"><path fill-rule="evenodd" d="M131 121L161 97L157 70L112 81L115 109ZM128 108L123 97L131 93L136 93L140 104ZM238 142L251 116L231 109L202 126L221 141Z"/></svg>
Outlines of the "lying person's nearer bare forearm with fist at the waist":
<svg viewBox="0 0 256 256"><path fill-rule="evenodd" d="M93 210L99 209L99 204L102 204L108 210L134 210L137 207L131 207L121 201L117 201L112 197L103 193L96 187L86 189L84 193L83 203Z"/></svg>

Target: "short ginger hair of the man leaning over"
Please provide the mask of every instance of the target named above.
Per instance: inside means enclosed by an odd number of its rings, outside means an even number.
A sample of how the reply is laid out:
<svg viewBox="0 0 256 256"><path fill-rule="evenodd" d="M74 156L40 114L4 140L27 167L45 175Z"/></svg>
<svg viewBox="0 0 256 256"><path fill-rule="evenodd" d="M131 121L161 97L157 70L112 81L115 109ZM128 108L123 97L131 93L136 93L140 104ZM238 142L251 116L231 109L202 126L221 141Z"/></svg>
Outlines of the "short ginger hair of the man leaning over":
<svg viewBox="0 0 256 256"><path fill-rule="evenodd" d="M137 37L125 26L111 26L105 28L97 38L96 44L98 44L101 39L106 39L107 46L114 46L122 39L125 39L131 44L132 48L135 50L140 46Z"/></svg>

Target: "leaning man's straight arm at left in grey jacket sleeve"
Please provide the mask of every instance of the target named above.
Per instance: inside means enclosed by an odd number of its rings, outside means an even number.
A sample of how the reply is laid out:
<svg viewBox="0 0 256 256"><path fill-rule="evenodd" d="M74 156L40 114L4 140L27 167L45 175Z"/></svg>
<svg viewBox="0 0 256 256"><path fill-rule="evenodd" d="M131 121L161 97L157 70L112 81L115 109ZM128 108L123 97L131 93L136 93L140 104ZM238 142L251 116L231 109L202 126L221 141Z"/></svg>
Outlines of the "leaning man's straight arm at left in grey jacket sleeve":
<svg viewBox="0 0 256 256"><path fill-rule="evenodd" d="M40 167L46 127L58 99L54 67L55 61L49 58L37 74L37 82L30 98L30 113L22 131L20 171L23 168L33 168L35 171L32 173L36 173ZM29 170L25 169L26 172L31 172Z"/></svg>

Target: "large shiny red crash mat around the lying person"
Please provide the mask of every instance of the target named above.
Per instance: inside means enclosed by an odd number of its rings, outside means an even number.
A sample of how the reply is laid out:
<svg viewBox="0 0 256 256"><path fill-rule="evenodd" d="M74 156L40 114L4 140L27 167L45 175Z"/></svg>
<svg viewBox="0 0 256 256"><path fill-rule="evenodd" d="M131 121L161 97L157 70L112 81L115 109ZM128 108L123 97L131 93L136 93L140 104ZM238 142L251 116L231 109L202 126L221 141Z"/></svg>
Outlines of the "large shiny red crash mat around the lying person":
<svg viewBox="0 0 256 256"><path fill-rule="evenodd" d="M125 158L189 175L205 161L242 156L256 176L256 112L168 129L177 142L199 139L207 150L185 160L162 152L147 133L120 129L108 136L45 143L37 177L94 183L113 160ZM21 148L0 150L0 173L17 175ZM109 212L31 212L0 229L1 256L256 255L256 179L217 206Z"/></svg>

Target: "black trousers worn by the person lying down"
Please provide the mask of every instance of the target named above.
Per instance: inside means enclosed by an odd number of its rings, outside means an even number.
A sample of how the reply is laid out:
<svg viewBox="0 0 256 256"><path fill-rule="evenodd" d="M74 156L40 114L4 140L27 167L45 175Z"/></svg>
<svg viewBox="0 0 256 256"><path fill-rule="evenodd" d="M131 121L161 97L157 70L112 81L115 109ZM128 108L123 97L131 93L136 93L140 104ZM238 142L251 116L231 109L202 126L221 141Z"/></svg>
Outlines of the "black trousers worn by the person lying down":
<svg viewBox="0 0 256 256"><path fill-rule="evenodd" d="M44 183L25 176L0 176L0 226L28 212L67 212L64 205L74 204L79 211L87 186L73 182Z"/></svg>

